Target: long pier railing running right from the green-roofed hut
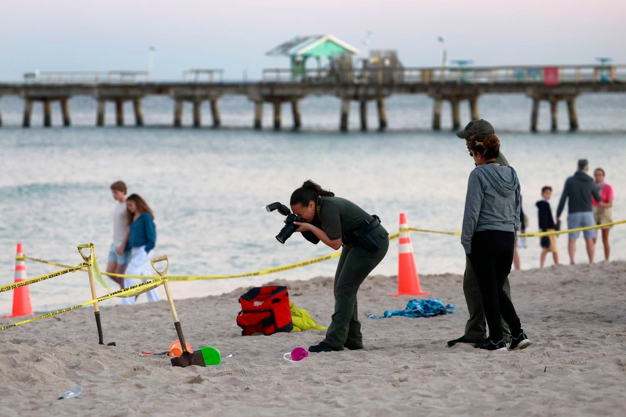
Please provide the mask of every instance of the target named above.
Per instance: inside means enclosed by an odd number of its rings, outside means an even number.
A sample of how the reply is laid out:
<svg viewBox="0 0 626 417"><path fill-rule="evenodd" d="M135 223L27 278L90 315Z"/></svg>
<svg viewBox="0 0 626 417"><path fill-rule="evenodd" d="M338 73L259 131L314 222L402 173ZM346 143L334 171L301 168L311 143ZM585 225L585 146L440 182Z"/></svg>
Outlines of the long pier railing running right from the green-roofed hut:
<svg viewBox="0 0 626 417"><path fill-rule="evenodd" d="M615 83L626 82L626 65L497 66L454 68L362 68L338 71L318 68L294 72L263 70L262 83L356 84L496 84L496 83Z"/></svg>

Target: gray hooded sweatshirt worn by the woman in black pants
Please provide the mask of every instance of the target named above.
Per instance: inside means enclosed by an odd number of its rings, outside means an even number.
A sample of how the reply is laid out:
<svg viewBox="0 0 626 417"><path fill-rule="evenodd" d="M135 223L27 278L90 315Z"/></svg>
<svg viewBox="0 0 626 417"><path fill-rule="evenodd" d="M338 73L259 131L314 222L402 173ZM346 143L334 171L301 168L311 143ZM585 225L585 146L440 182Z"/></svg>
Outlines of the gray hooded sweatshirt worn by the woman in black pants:
<svg viewBox="0 0 626 417"><path fill-rule="evenodd" d="M475 232L520 229L520 207L520 180L512 167L487 163L474 168L469 174L461 232L465 253L471 253Z"/></svg>

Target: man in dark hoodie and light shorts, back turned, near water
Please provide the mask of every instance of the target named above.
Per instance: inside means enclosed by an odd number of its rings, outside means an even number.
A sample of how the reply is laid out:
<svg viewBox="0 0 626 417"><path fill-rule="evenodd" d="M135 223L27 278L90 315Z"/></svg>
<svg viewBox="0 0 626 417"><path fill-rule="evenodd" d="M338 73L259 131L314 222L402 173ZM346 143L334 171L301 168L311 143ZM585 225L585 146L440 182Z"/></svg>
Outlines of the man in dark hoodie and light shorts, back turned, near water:
<svg viewBox="0 0 626 417"><path fill-rule="evenodd" d="M579 159L577 172L565 181L565 187L563 187L561 200L558 202L557 223L559 217L561 217L561 214L563 213L563 209L565 208L565 200L569 198L567 205L568 229L578 229L579 227L595 225L591 199L593 197L599 203L602 198L600 198L598 187L595 185L595 182L593 182L593 178L587 174L588 170L589 162L586 159ZM593 238L595 237L595 234L595 229L583 230L590 264L593 264L593 255L595 252ZM580 235L580 232L572 232L569 234L570 239L567 242L567 251L570 254L570 265L574 264L574 257L576 255L576 240L578 239L578 235Z"/></svg>

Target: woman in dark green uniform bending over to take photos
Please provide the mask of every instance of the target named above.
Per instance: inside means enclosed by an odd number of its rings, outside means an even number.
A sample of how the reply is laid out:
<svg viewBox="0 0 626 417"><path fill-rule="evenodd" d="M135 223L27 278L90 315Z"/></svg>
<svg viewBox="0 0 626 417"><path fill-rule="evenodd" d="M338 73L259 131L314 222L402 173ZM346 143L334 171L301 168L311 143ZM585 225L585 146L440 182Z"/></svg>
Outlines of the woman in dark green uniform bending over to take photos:
<svg viewBox="0 0 626 417"><path fill-rule="evenodd" d="M290 198L291 210L304 222L294 222L310 242L343 247L334 282L335 312L326 339L309 352L362 349L356 294L367 275L389 249L389 234L376 215L307 180Z"/></svg>

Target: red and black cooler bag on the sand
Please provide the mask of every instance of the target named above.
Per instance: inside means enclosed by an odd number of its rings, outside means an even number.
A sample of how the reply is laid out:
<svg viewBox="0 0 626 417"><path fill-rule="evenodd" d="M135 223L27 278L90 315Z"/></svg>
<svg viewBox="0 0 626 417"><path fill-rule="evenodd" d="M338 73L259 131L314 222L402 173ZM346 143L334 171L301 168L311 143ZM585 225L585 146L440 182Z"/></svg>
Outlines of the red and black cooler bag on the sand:
<svg viewBox="0 0 626 417"><path fill-rule="evenodd" d="M254 287L239 297L239 304L241 311L237 316L237 325L243 329L242 336L290 332L294 329L287 287Z"/></svg>

